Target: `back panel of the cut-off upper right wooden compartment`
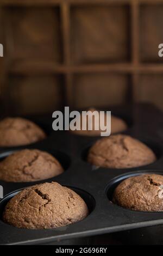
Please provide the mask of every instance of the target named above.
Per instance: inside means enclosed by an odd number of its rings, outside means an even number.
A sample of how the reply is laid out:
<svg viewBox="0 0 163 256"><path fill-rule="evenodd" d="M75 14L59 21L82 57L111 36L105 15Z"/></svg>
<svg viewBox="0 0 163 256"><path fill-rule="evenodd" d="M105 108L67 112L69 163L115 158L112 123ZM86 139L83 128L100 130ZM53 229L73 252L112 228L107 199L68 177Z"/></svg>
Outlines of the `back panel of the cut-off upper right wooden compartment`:
<svg viewBox="0 0 163 256"><path fill-rule="evenodd" d="M163 42L162 5L140 7L140 59L143 63L163 63L158 55L158 46Z"/></svg>

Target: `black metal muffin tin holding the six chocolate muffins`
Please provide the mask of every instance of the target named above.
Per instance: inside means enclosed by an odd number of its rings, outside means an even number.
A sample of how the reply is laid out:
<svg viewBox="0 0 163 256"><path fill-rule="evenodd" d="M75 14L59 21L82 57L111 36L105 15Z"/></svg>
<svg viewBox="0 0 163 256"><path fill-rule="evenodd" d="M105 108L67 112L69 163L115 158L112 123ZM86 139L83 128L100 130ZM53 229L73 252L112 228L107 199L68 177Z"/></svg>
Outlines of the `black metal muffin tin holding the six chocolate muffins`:
<svg viewBox="0 0 163 256"><path fill-rule="evenodd" d="M136 104L108 107L112 114L122 117L128 123L124 134L131 135L153 149L158 160L148 166L130 169L95 168L86 162L89 147L100 137L73 135L70 131L52 131L52 117L29 118L48 133L47 139L32 145L17 148L1 148L0 161L15 150L35 148L55 156L65 172L52 179L36 182L4 182L4 198L0 202L0 244L36 245L61 244L63 240L113 233L163 224L163 212L140 212L123 209L111 202L115 187L124 179L143 173L163 174L163 114L152 105ZM83 221L66 227L27 230L12 227L2 221L2 213L8 200L27 186L57 181L72 188L85 200L90 214ZM74 240L73 240L74 241ZM68 243L69 244L69 243Z"/></svg>

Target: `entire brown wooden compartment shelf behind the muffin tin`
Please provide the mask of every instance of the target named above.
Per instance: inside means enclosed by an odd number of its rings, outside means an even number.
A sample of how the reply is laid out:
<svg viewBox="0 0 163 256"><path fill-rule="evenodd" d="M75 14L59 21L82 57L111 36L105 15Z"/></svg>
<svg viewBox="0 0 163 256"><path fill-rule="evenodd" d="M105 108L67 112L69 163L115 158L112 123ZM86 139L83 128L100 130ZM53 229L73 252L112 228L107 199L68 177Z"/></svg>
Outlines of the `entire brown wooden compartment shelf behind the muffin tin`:
<svg viewBox="0 0 163 256"><path fill-rule="evenodd" d="M163 0L0 0L1 109L163 109Z"/></svg>

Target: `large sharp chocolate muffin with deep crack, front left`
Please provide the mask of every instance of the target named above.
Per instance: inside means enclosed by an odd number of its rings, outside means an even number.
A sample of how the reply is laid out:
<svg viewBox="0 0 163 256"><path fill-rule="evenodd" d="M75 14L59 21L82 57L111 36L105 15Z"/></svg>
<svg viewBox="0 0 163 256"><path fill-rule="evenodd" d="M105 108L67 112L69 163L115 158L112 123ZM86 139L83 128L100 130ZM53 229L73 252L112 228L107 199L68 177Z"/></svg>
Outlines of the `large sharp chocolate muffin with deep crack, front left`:
<svg viewBox="0 0 163 256"><path fill-rule="evenodd" d="M83 220L89 211L84 200L57 182L25 188L5 206L3 221L18 228L58 228Z"/></svg>

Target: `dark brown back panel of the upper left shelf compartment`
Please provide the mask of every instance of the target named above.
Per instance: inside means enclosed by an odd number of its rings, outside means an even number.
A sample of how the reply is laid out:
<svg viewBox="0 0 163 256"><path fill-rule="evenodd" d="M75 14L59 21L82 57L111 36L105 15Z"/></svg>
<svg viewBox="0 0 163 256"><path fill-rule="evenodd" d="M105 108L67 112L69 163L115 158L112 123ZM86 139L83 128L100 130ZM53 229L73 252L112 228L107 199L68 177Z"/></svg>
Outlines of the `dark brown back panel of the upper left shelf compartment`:
<svg viewBox="0 0 163 256"><path fill-rule="evenodd" d="M59 8L5 10L4 31L10 59L62 62Z"/></svg>

